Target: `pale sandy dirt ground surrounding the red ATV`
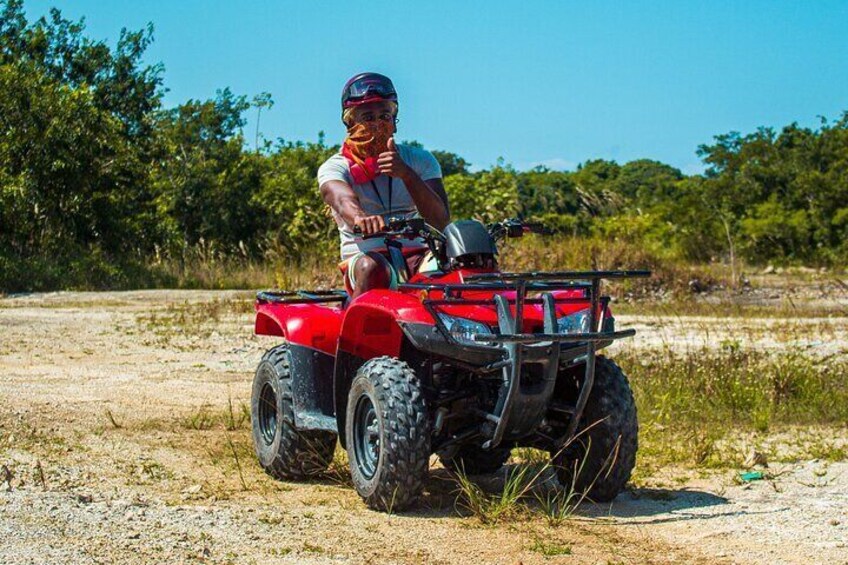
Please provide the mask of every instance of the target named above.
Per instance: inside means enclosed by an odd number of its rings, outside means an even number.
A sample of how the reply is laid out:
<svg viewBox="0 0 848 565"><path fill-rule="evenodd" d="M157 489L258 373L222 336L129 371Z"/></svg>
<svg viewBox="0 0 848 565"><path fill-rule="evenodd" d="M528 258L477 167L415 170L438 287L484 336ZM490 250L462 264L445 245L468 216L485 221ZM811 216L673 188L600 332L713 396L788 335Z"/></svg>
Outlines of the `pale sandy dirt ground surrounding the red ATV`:
<svg viewBox="0 0 848 565"><path fill-rule="evenodd" d="M244 410L274 343L252 335L250 308L236 292L0 299L0 563L848 563L846 462L750 484L667 469L557 527L461 516L435 465L420 509L393 516L362 505L342 461L273 481ZM674 347L704 328L780 347L775 323L848 342L845 318L620 320Z"/></svg>

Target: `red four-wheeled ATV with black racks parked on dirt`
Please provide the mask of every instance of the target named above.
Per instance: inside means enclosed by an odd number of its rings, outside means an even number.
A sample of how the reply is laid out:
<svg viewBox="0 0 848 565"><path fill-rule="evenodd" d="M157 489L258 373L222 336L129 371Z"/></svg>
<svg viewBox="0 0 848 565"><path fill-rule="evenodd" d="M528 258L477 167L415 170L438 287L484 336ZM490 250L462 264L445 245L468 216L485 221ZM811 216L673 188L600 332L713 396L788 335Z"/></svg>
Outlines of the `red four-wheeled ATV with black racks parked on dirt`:
<svg viewBox="0 0 848 565"><path fill-rule="evenodd" d="M495 242L525 231L517 220L443 233L393 220L370 237L385 239L397 290L258 293L256 333L285 340L253 381L262 467L314 476L338 439L368 506L399 510L420 494L432 453L477 474L528 446L552 454L563 484L613 499L635 463L636 407L621 369L596 352L635 331L615 331L600 281L650 273L500 272ZM416 238L437 272L407 273L399 240Z"/></svg>

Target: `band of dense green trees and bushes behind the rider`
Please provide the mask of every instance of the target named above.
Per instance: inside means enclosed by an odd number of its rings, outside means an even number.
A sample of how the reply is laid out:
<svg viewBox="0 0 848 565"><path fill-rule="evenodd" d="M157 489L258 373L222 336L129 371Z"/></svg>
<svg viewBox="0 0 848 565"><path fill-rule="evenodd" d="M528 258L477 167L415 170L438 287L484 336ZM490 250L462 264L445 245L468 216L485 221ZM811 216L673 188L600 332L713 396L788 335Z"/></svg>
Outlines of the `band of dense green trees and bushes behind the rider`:
<svg viewBox="0 0 848 565"><path fill-rule="evenodd" d="M143 61L151 28L114 47L84 32L0 1L0 290L174 284L162 266L196 257L332 256L315 175L337 146L248 144L245 115L272 105L266 93L165 108L163 69ZM471 173L435 152L454 217L520 215L692 262L848 259L848 113L698 153L706 173L686 176L647 159Z"/></svg>

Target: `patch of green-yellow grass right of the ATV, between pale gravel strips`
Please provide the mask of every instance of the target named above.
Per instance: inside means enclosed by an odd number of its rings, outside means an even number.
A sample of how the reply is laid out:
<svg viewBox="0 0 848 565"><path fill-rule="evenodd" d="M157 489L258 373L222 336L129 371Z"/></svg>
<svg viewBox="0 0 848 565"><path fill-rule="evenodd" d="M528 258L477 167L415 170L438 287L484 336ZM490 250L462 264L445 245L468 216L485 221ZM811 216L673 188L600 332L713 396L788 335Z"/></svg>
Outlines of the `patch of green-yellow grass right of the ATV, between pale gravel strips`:
<svg viewBox="0 0 848 565"><path fill-rule="evenodd" d="M682 353L625 352L617 361L630 377L639 410L641 477L670 464L739 467L752 449L771 460L845 458L846 446L827 434L793 439L793 430L809 427L844 430L844 354L823 359L729 344Z"/></svg>

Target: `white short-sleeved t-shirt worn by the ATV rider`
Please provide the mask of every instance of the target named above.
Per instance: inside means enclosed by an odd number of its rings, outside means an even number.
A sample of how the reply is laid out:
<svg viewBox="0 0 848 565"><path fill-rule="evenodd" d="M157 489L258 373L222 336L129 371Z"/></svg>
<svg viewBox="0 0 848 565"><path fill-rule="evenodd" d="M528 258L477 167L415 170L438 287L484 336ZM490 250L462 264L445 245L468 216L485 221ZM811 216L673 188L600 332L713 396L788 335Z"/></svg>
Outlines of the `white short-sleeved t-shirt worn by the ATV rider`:
<svg viewBox="0 0 848 565"><path fill-rule="evenodd" d="M432 153L411 145L398 145L397 148L400 158L421 177L421 180L442 178L442 169ZM319 187L330 180L340 180L349 184L366 214L379 214L383 216L383 219L397 216L413 218L419 215L415 201L401 179L379 175L372 182L354 184L350 166L341 153L336 153L327 159L318 169ZM348 226L335 210L333 210L333 219L339 226L342 259L347 259L361 251L385 247L385 242L381 238L356 241L352 227ZM400 242L404 247L424 247L424 243L417 240L400 240Z"/></svg>

